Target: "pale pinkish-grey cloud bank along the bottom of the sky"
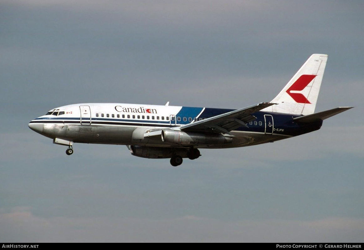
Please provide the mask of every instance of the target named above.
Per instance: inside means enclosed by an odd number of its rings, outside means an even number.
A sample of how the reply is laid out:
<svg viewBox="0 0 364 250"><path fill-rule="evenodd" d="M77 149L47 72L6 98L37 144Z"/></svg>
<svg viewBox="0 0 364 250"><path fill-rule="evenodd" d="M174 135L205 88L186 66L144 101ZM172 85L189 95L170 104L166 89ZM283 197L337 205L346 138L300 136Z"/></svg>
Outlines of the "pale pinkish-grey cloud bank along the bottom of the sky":
<svg viewBox="0 0 364 250"><path fill-rule="evenodd" d="M30 208L28 208L30 209ZM3 242L362 242L364 219L222 221L186 215L172 219L42 218L15 207L0 214ZM302 239L302 235L304 238Z"/></svg>

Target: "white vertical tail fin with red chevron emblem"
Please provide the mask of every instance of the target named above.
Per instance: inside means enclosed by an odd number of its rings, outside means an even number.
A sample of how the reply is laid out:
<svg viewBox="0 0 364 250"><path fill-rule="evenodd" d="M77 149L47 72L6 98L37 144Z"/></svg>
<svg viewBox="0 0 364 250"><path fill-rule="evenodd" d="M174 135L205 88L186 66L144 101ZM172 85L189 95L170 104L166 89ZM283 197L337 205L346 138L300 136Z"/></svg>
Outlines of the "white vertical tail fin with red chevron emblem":
<svg viewBox="0 0 364 250"><path fill-rule="evenodd" d="M264 111L313 114L327 62L327 55L313 54Z"/></svg>

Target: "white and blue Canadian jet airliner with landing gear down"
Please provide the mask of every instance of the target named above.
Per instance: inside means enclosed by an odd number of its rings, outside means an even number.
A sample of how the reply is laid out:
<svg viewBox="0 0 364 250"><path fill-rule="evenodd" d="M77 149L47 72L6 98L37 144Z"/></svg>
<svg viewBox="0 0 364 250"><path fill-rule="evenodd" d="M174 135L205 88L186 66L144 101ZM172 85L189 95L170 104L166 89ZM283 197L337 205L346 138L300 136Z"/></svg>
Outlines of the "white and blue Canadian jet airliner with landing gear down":
<svg viewBox="0 0 364 250"><path fill-rule="evenodd" d="M241 109L82 103L35 118L29 128L68 146L127 145L133 156L170 158L172 166L201 156L199 149L252 146L321 128L323 120L353 107L314 113L327 55L313 54L270 102Z"/></svg>

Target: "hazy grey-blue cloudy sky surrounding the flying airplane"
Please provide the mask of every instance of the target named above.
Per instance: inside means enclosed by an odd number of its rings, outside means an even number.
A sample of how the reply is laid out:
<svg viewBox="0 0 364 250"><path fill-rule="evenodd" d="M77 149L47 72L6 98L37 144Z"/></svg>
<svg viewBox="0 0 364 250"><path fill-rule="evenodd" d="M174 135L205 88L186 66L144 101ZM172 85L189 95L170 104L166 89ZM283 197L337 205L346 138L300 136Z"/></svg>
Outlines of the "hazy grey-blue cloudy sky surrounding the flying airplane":
<svg viewBox="0 0 364 250"><path fill-rule="evenodd" d="M363 242L363 1L0 3L0 241ZM57 106L242 108L328 54L321 130L201 150L173 168L125 146L52 144Z"/></svg>

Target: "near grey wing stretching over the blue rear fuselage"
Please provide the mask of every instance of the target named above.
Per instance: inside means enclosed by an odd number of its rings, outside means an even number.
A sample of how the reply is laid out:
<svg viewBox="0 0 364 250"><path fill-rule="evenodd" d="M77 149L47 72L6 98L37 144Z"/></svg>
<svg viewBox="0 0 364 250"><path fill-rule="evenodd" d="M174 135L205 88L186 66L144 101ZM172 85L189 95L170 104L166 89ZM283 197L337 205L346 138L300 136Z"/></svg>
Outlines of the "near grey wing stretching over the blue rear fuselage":
<svg viewBox="0 0 364 250"><path fill-rule="evenodd" d="M218 116L213 116L205 120L192 122L190 124L182 125L179 129L190 132L215 132L230 134L229 132L241 126L248 128L246 123L256 119L252 114L274 105L275 103L262 102L248 108L237 109Z"/></svg>

